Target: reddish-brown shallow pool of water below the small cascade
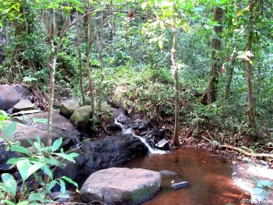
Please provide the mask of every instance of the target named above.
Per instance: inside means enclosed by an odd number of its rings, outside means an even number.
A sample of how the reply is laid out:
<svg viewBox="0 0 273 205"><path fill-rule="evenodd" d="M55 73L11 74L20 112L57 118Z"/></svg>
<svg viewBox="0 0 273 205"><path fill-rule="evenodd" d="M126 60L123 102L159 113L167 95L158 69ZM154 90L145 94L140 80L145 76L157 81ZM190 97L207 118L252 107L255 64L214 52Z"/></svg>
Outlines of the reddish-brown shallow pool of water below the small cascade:
<svg viewBox="0 0 273 205"><path fill-rule="evenodd" d="M127 168L168 170L181 176L163 176L161 190L143 205L241 205L242 191L234 185L232 170L223 159L205 150L182 148L163 155L146 155L125 164ZM188 181L188 187L171 188L171 181Z"/></svg>

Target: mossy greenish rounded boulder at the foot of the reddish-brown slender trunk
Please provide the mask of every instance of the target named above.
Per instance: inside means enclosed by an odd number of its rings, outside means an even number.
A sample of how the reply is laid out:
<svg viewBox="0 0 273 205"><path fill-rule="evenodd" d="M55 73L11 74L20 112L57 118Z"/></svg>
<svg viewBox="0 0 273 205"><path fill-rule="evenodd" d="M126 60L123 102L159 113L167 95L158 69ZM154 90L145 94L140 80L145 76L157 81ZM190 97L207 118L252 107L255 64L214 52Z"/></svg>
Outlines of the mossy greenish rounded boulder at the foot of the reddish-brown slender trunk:
<svg viewBox="0 0 273 205"><path fill-rule="evenodd" d="M91 118L92 108L90 105L79 107L75 110L73 115L70 117L71 123L79 130L84 130L89 123Z"/></svg>

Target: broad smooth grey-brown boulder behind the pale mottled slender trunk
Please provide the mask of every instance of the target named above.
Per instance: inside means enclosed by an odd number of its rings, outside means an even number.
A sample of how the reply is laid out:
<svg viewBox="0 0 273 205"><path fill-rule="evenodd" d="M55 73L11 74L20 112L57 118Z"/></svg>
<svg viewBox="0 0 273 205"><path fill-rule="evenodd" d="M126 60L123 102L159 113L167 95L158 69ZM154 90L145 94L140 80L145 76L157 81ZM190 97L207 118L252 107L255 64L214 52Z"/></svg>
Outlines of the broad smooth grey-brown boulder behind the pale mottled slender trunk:
<svg viewBox="0 0 273 205"><path fill-rule="evenodd" d="M47 137L47 124L34 123L33 118L47 118L47 113L35 113L22 117L21 123L17 124L16 130L13 133L14 140L21 142L22 146L29 147L30 144L27 140L35 140L35 136L38 135L41 141L45 144ZM53 112L52 115L52 141L62 137L62 146L75 146L80 143L78 139L79 131L71 124L69 119L61 116L57 112ZM73 142L73 143L72 143Z"/></svg>

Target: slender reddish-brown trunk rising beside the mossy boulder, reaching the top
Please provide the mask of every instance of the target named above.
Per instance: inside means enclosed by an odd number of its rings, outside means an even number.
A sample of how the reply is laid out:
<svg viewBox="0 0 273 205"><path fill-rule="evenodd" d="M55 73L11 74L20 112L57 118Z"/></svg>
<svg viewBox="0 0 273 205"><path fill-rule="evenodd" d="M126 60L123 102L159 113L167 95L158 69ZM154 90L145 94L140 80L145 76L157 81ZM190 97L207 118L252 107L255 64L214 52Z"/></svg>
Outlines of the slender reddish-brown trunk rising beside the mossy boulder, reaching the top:
<svg viewBox="0 0 273 205"><path fill-rule="evenodd" d="M90 9L90 2L88 0L88 8ZM91 16L88 16L88 53L87 53L87 59L86 59L86 71L89 81L89 87L90 87L90 98L91 98L91 107L92 107L92 117L94 117L95 114L95 102L94 102L94 94L93 94L93 82L90 75L89 65L90 65L90 58L91 58L91 48L92 48L92 28L91 28ZM93 120L94 121L94 120ZM92 122L93 123L93 122Z"/></svg>

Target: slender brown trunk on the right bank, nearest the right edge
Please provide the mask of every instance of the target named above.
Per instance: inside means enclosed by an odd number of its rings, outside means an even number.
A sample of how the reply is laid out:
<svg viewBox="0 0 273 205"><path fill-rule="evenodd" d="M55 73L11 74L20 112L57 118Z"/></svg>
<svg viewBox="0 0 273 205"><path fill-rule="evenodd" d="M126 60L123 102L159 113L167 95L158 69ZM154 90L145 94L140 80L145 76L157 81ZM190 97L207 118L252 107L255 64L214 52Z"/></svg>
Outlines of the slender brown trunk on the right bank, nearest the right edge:
<svg viewBox="0 0 273 205"><path fill-rule="evenodd" d="M247 51L251 52L251 43L252 43L252 31L253 31L253 19L252 19L252 12L253 12L253 0L248 0L248 6L249 6L249 32L248 32L248 40L247 40ZM252 97L252 83L251 83L251 62L250 60L246 61L247 63L247 116L248 116L248 123L249 128L251 128L251 131L253 134L251 135L251 142L255 142L257 139L256 135L256 123L255 123L255 114L254 114L254 103L253 103L253 97Z"/></svg>

